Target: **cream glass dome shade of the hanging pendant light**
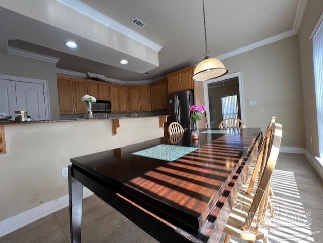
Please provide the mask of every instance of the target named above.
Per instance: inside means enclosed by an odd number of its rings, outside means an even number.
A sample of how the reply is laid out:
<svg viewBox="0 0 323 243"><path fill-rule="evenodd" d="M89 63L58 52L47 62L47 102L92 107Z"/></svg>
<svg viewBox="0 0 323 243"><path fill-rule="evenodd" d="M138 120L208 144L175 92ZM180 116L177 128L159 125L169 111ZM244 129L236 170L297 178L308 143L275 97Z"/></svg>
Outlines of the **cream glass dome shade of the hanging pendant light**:
<svg viewBox="0 0 323 243"><path fill-rule="evenodd" d="M206 81L221 77L228 73L222 62L215 58L207 58L200 62L193 75L194 81Z"/></svg>

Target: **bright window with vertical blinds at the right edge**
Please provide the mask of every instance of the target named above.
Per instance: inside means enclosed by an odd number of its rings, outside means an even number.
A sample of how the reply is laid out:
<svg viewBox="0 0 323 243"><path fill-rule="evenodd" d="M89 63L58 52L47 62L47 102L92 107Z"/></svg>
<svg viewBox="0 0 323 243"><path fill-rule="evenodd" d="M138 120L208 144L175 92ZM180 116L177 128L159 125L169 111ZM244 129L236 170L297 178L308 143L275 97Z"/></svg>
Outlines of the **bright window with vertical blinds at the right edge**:
<svg viewBox="0 0 323 243"><path fill-rule="evenodd" d="M323 157L323 23L320 23L313 36L313 58L319 153Z"/></svg>

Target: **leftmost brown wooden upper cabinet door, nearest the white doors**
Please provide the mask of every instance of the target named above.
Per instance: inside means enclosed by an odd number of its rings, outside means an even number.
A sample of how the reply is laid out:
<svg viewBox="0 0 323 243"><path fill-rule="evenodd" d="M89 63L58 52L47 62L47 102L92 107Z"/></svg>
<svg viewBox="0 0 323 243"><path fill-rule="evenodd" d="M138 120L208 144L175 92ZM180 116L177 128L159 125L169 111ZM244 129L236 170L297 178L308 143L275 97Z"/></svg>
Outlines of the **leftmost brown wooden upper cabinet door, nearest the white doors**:
<svg viewBox="0 0 323 243"><path fill-rule="evenodd" d="M60 114L74 113L73 85L71 78L58 77L57 88L59 94Z"/></svg>

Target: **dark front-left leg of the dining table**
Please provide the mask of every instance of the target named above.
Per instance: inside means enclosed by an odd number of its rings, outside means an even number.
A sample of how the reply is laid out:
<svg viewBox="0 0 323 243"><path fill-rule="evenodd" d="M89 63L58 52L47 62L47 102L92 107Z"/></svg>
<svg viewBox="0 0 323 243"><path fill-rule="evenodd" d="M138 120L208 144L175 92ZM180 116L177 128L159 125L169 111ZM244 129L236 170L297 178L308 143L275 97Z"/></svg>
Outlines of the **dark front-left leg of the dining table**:
<svg viewBox="0 0 323 243"><path fill-rule="evenodd" d="M71 243L80 243L82 226L83 185L74 177L72 177L71 169L72 167L69 166L68 172Z"/></svg>

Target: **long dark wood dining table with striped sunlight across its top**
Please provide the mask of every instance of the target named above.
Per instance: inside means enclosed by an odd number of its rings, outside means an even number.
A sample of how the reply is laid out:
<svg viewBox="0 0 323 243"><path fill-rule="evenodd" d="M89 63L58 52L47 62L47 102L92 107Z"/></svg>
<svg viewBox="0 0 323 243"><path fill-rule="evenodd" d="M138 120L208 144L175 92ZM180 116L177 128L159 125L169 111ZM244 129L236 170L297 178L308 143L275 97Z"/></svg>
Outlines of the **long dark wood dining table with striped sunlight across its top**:
<svg viewBox="0 0 323 243"><path fill-rule="evenodd" d="M160 242L218 242L261 138L260 128L200 133L198 140L185 132L72 158L72 243L81 242L83 186ZM197 149L174 161L132 154L159 144Z"/></svg>

